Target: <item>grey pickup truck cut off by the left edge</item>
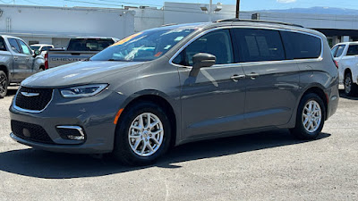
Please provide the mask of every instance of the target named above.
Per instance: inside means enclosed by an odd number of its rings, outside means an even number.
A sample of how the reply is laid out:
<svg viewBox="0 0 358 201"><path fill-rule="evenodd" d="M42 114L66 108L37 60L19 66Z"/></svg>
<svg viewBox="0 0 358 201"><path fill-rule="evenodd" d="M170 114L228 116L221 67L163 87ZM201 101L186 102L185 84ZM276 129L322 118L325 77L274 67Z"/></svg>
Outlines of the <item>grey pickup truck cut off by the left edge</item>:
<svg viewBox="0 0 358 201"><path fill-rule="evenodd" d="M44 58L38 54L21 38L0 36L0 98L6 96L10 83L20 83L45 69Z"/></svg>

